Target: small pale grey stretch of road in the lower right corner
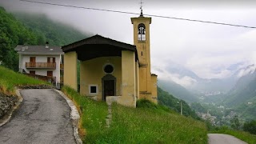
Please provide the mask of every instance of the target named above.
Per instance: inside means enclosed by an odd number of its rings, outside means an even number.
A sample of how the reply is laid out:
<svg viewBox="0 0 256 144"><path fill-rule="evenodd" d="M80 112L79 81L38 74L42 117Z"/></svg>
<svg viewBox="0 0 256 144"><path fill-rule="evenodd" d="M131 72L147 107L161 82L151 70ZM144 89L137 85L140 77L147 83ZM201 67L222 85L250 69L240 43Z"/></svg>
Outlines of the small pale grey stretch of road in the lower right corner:
<svg viewBox="0 0 256 144"><path fill-rule="evenodd" d="M228 134L208 134L209 144L246 144L242 140Z"/></svg>

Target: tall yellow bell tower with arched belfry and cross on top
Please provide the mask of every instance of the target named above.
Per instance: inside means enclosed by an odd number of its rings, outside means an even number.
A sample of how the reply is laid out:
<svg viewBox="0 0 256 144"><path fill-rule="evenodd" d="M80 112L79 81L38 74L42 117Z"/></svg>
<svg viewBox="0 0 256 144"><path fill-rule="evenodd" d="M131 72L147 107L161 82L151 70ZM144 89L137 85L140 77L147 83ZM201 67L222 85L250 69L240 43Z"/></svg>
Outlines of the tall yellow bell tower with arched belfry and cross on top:
<svg viewBox="0 0 256 144"><path fill-rule="evenodd" d="M150 72L150 24L151 18L143 16L142 6L141 14L138 18L131 18L134 25L134 45L138 52L139 61L139 98L152 100L156 99L156 75ZM151 76L152 75L152 76ZM151 78L154 77L154 78ZM153 81L151 81L153 80ZM154 84L155 86L153 86ZM154 90L153 90L154 89ZM153 96L154 95L154 96ZM157 100L153 100L153 102Z"/></svg>

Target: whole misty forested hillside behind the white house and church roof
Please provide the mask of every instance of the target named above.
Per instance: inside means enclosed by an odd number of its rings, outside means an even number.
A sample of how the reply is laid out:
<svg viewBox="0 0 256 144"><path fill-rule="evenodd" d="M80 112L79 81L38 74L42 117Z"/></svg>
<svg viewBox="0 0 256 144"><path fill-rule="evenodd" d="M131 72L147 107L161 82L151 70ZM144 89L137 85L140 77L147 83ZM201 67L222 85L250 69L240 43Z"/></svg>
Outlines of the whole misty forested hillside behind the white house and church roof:
<svg viewBox="0 0 256 144"><path fill-rule="evenodd" d="M63 46L88 37L71 26L53 22L43 14L10 14L0 6L0 64L18 70L17 45Z"/></svg>

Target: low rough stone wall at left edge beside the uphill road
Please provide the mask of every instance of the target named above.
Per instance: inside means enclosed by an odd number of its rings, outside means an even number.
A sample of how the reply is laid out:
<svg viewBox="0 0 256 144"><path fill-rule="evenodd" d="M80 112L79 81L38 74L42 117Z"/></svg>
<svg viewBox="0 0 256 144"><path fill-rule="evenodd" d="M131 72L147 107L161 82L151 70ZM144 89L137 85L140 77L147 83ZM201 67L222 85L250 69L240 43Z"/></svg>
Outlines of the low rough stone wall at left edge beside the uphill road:
<svg viewBox="0 0 256 144"><path fill-rule="evenodd" d="M8 114L8 112L18 102L18 98L14 95L6 96L0 92L0 119Z"/></svg>

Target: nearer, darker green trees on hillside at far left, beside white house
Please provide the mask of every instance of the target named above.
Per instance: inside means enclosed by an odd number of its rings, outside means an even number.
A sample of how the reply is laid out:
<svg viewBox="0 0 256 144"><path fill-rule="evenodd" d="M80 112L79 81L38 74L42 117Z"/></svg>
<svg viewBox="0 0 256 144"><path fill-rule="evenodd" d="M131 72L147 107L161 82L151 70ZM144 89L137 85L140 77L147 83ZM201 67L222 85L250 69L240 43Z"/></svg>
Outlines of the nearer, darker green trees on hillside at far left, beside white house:
<svg viewBox="0 0 256 144"><path fill-rule="evenodd" d="M12 14L0 7L0 62L12 70L18 70L18 54L14 47L18 44L37 44L40 40L32 30L18 22Z"/></svg>

